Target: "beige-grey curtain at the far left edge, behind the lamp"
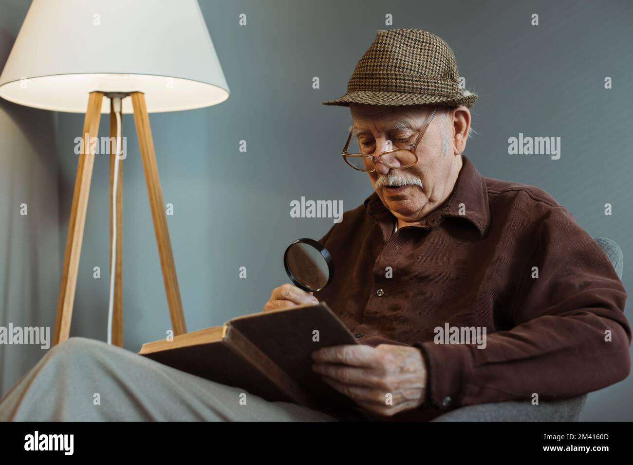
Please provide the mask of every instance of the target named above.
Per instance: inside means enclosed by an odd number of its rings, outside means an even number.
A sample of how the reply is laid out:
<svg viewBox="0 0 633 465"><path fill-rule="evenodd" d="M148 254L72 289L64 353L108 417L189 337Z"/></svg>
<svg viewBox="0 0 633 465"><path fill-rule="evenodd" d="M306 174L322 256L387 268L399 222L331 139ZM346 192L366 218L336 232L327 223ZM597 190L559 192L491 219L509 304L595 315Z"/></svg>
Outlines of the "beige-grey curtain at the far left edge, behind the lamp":
<svg viewBox="0 0 633 465"><path fill-rule="evenodd" d="M0 68L27 7L0 1ZM54 122L50 111L0 99L0 326L55 323L61 228ZM0 395L45 353L39 345L0 344Z"/></svg>

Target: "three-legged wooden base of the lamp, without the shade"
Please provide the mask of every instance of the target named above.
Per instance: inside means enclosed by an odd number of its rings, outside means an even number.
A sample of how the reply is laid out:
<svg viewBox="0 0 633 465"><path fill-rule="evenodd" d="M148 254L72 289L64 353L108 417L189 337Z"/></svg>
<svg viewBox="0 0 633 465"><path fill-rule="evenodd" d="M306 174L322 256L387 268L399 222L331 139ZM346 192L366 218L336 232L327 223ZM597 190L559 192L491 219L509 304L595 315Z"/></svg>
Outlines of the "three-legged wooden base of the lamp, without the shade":
<svg viewBox="0 0 633 465"><path fill-rule="evenodd" d="M91 140L99 134L99 119L101 118L101 104L103 102L103 92L91 92L88 100L88 107L85 113L84 137ZM158 176L158 165L156 164L156 154L154 152L154 142L152 140L151 128L149 126L149 115L145 96L142 92L130 92L132 106L134 108L134 123L139 139L139 149L147 184L147 195L149 195L149 207L152 212L154 232L156 233L156 244L158 245L158 256L163 270L163 282L167 295L169 314L172 320L174 335L187 332L185 317L182 312L182 302L180 301L180 290L176 278L176 268L173 262L172 243L169 239L167 228L167 218L165 214L165 204L163 203L163 193L160 187L160 177ZM116 137L116 119L113 106L110 106L110 137ZM112 139L110 139L112 140ZM73 191L73 201L70 209L70 221L68 222L68 237L66 239L66 252L64 254L63 271L61 274L60 298L57 305L57 316L55 319L55 330L53 345L68 339L70 335L70 322L73 313L73 302L75 300L75 289L77 287L77 273L79 269L79 257L81 245L84 237L85 215L90 194L90 183L92 179L92 167L94 166L94 151L91 151L92 144L84 144L84 150L79 155L77 164L77 177L75 178L75 190ZM112 144L110 144L112 146ZM110 198L113 194L114 182L114 161L116 151L110 151ZM113 154L112 152L115 152ZM123 286L122 286L122 160L119 160L118 189L116 195L116 231L110 228L110 239L116 234L116 251L110 250L111 254L116 253L115 270L115 293L114 293L114 314L112 324L112 343L123 347ZM112 225L113 209L110 208L110 224Z"/></svg>

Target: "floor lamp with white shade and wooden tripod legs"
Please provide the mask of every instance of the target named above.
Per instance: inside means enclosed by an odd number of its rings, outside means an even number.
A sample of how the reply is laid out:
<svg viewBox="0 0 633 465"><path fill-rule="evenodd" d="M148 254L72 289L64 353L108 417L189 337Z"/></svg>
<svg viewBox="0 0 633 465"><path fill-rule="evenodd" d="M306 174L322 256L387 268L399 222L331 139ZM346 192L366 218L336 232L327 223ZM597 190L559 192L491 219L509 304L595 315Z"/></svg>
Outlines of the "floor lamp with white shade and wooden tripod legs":
<svg viewBox="0 0 633 465"><path fill-rule="evenodd" d="M174 335L187 332L148 113L203 108L229 98L197 1L33 0L0 75L0 97L35 108L85 112L86 140L98 136L102 113L110 114L111 137L121 134L122 114L134 113L172 329ZM110 270L108 340L122 347L123 195L117 187L123 160L117 161L115 154L110 151L110 254L115 266ZM78 155L53 345L70 335L94 157L94 147L84 144Z"/></svg>

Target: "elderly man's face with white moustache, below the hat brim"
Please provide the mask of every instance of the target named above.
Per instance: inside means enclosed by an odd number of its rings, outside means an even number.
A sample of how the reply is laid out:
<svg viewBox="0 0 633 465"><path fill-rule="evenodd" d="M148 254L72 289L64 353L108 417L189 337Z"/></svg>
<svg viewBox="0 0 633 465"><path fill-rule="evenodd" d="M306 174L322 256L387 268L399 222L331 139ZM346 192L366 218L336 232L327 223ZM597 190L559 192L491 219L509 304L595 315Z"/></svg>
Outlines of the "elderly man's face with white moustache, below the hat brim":
<svg viewBox="0 0 633 465"><path fill-rule="evenodd" d="M362 147L363 153L378 156L382 151L413 144L427 123L433 107L350 104L350 110L358 146ZM376 170L368 173L385 207L406 223L422 220L441 205L453 190L461 169L461 156L456 153L460 153L463 148L454 144L453 115L456 113L453 110L446 118L447 112L448 108L437 110L415 149L418 156L416 164L394 170L383 163L376 163ZM470 114L468 125L469 117ZM460 121L457 120L460 118L456 118L456 127L460 132ZM388 141L391 141L391 146Z"/></svg>

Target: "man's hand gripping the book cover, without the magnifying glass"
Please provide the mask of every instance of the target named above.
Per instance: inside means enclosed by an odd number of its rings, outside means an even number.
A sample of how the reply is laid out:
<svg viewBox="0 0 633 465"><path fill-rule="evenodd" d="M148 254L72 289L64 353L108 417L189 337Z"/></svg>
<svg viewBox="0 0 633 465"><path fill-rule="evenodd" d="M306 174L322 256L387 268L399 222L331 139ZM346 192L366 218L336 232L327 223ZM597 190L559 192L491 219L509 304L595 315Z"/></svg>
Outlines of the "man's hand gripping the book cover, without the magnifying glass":
<svg viewBox="0 0 633 465"><path fill-rule="evenodd" d="M427 368L416 347L336 345L315 350L312 359L325 382L369 412L392 416L426 400Z"/></svg>

